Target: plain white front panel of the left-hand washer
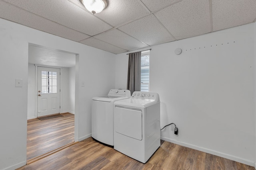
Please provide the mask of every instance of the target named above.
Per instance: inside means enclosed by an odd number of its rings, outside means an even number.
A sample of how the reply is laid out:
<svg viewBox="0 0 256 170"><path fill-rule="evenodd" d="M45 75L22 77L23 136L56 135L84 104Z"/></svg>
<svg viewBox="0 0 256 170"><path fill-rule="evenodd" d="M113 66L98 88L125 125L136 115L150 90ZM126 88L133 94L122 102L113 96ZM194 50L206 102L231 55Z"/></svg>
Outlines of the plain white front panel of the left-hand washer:
<svg viewBox="0 0 256 170"><path fill-rule="evenodd" d="M92 100L92 137L114 146L113 104Z"/></svg>

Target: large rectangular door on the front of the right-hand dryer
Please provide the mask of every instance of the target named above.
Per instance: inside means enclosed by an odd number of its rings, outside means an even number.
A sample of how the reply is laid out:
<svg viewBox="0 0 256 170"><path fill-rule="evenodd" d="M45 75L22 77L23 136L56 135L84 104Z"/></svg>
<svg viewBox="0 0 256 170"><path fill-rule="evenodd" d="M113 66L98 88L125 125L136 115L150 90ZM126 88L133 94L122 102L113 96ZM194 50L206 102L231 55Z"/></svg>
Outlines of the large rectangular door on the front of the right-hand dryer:
<svg viewBox="0 0 256 170"><path fill-rule="evenodd" d="M115 107L115 131L142 140L142 111L140 109Z"/></svg>

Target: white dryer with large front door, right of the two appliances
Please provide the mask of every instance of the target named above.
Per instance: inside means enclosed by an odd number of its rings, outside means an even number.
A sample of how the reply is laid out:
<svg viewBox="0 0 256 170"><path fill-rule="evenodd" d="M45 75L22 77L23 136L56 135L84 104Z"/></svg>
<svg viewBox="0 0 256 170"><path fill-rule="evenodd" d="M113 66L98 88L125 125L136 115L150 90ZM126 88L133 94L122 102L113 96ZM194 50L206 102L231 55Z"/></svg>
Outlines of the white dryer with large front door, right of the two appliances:
<svg viewBox="0 0 256 170"><path fill-rule="evenodd" d="M154 92L134 92L114 103L114 149L142 163L160 147L160 100Z"/></svg>

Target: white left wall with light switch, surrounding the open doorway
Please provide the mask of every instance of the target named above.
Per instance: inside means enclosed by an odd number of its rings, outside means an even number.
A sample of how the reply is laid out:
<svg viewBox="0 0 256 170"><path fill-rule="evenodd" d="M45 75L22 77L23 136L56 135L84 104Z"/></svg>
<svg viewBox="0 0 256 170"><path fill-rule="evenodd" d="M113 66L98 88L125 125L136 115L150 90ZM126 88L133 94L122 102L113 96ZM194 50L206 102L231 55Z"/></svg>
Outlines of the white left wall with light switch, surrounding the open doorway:
<svg viewBox="0 0 256 170"><path fill-rule="evenodd" d="M3 19L0 37L0 71L5 73L0 85L0 169L26 164L28 43L79 54L75 132L79 141L90 137L91 98L115 87L115 55ZM23 79L23 87L14 87L16 78ZM82 82L85 87L80 86Z"/></svg>

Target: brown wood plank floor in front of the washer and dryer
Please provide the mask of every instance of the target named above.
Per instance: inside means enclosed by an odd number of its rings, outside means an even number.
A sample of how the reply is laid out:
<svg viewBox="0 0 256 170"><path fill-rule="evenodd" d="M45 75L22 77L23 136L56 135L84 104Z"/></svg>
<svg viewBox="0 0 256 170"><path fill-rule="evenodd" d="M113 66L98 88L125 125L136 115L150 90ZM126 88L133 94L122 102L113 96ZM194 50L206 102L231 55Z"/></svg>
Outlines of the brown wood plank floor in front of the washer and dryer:
<svg viewBox="0 0 256 170"><path fill-rule="evenodd" d="M254 167L167 141L143 164L85 139L18 170L255 170Z"/></svg>

